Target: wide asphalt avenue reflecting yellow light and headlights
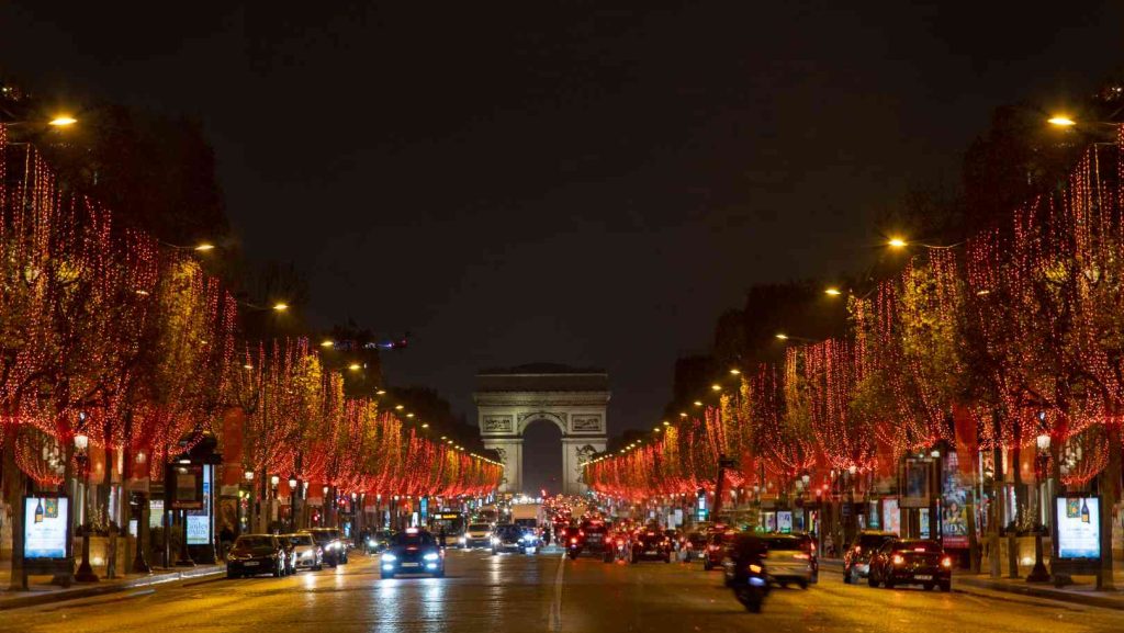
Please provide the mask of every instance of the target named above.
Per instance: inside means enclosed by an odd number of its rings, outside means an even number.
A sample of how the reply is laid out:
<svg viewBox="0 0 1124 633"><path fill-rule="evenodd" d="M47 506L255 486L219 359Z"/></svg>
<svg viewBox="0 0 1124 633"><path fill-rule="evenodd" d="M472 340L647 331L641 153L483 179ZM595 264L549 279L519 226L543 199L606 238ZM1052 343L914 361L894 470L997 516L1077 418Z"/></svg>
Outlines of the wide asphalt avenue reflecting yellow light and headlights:
<svg viewBox="0 0 1124 633"><path fill-rule="evenodd" d="M697 564L450 553L447 577L381 580L354 557L296 577L201 579L0 614L27 633L1121 632L1124 613L1028 598L843 585L774 590L746 613Z"/></svg>

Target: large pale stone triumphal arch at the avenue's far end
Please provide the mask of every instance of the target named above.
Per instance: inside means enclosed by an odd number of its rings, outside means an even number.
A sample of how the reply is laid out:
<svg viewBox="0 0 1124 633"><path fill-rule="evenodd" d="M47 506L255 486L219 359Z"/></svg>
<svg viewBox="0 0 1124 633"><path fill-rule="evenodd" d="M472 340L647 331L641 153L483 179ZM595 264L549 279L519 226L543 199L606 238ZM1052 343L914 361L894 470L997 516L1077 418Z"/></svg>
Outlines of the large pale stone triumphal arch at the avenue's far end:
<svg viewBox="0 0 1124 633"><path fill-rule="evenodd" d="M538 421L562 431L562 491L580 495L582 464L605 451L609 374L529 364L477 374L474 395L484 446L504 462L500 491L523 491L523 432Z"/></svg>

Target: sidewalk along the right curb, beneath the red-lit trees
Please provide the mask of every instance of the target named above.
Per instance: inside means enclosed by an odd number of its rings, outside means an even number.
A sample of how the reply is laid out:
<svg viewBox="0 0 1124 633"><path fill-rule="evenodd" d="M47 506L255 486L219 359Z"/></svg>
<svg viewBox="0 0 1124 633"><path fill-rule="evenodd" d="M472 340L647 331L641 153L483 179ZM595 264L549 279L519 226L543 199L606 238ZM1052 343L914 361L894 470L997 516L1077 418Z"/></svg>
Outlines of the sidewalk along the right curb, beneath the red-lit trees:
<svg viewBox="0 0 1124 633"><path fill-rule="evenodd" d="M843 561L840 559L819 559L819 566L823 569L843 571ZM1032 598L1124 611L1124 570L1115 570L1114 577L1117 587L1115 591L1097 591L1094 589L1095 579L1086 576L1077 577L1073 585L1058 588L1050 582L1027 582L1026 578L991 578L986 573L972 575L964 570L957 570L952 573L952 589L985 597L995 597L990 594L991 591L1001 591Z"/></svg>

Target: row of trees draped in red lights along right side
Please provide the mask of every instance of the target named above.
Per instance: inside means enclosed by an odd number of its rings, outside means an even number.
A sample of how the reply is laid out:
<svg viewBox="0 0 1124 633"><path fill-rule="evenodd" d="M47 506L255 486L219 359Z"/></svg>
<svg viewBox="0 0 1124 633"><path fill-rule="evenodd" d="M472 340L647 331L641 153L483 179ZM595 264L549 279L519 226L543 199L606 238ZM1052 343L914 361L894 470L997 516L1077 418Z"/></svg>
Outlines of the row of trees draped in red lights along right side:
<svg viewBox="0 0 1124 633"><path fill-rule="evenodd" d="M1000 226L931 247L851 295L849 335L740 368L736 389L715 385L713 405L590 464L587 480L634 498L690 494L714 487L720 453L741 458L735 479L764 487L764 473L783 487L832 469L889 474L904 454L937 445L959 449L971 472L980 451L1024 463L1045 435L1049 473L1069 487L1100 476L1113 508L1124 415L1120 141L1090 147L1068 182Z"/></svg>

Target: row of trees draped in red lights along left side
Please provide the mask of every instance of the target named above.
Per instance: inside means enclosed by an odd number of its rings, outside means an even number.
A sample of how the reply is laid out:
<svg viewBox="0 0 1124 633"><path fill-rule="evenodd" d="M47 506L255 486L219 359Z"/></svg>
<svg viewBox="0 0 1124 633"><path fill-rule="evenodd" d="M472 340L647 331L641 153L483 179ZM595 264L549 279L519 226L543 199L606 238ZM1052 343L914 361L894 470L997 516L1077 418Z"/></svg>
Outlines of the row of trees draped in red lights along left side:
<svg viewBox="0 0 1124 633"><path fill-rule="evenodd" d="M342 492L491 490L499 467L426 440L393 410L343 396L301 340L237 340L238 306L190 250L115 225L31 145L0 125L0 441L10 507L29 478L75 476L75 437L110 471L162 477L182 437L211 431L246 469L296 473ZM218 421L241 408L243 421ZM232 433L232 431L234 431ZM224 433L226 432L226 433ZM224 437L229 435L229 437ZM120 465L117 465L120 464Z"/></svg>

